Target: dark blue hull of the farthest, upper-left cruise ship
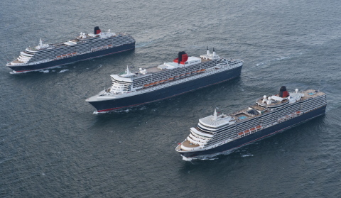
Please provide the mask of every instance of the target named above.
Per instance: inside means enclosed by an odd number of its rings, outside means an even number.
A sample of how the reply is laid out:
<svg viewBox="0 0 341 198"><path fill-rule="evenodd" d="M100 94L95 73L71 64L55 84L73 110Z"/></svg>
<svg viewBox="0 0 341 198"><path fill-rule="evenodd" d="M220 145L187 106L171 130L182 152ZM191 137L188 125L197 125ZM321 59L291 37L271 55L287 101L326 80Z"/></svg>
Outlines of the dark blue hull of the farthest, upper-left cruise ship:
<svg viewBox="0 0 341 198"><path fill-rule="evenodd" d="M81 60L88 60L88 59L92 59L95 57L101 57L104 55L111 55L114 53L121 53L124 52L126 50L132 50L135 48L135 43L129 43L129 44L125 44L125 45L121 45L121 46L117 46L114 48L109 48L106 50L99 50L97 52L93 52L93 53L87 53L87 54L83 54L83 55L76 55L73 57L67 57L67 58L63 58L60 60L53 60L50 62L43 62L40 64L36 64L36 65L26 65L26 66L7 66L9 68L11 68L12 70L14 70L15 72L31 72L34 70L43 70L43 69L48 69L48 68L52 68L52 67L58 67L60 65L66 65L66 64L70 64L72 62L78 62Z"/></svg>

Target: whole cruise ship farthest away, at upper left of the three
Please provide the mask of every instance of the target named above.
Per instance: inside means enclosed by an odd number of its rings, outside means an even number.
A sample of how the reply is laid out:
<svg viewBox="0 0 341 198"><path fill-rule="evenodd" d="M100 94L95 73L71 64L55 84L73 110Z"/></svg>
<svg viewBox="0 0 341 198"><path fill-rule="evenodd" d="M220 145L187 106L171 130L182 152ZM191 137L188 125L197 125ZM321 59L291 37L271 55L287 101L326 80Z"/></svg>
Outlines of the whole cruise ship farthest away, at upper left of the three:
<svg viewBox="0 0 341 198"><path fill-rule="evenodd" d="M43 70L80 60L121 53L135 48L135 40L126 33L102 32L98 26L94 33L80 33L63 43L44 44L40 39L36 47L28 47L19 57L6 64L12 74Z"/></svg>

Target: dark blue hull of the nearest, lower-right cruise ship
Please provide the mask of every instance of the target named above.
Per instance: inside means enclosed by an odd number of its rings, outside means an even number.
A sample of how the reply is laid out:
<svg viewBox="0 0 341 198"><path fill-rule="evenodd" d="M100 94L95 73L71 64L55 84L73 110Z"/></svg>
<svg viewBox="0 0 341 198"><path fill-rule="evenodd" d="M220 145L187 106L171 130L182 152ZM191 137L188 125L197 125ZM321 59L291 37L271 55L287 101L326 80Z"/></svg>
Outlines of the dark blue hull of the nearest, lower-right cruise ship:
<svg viewBox="0 0 341 198"><path fill-rule="evenodd" d="M266 138L267 136L271 136L274 133L278 133L292 126L296 126L299 123L302 123L304 121L308 121L317 116L321 116L325 114L325 107L326 105L318 109L315 109L313 111L309 111L308 113L302 114L301 116L297 116L296 118L290 119L288 121L283 121L282 123L278 123L269 128L264 128L263 130L258 131L256 133L251 133L250 135L244 136L235 141L217 146L216 148L211 148L210 150L202 150L202 151L197 151L197 152L188 152L188 153L180 153L180 154L185 156L186 158L193 158L193 157L195 158L195 157L200 157L202 155L219 154L227 150L239 148L249 143L252 143L254 141L258 141L261 138Z"/></svg>

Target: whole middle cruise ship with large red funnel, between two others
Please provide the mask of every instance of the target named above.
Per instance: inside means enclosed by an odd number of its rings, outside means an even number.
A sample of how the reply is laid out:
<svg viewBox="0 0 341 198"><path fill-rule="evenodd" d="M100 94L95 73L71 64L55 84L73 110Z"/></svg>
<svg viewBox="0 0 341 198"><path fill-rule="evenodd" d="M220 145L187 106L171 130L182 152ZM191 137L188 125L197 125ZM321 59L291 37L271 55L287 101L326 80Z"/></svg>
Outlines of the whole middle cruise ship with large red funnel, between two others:
<svg viewBox="0 0 341 198"><path fill-rule="evenodd" d="M112 87L86 101L97 109L94 114L138 106L238 77L242 65L242 60L220 57L214 49L210 53L207 48L200 57L180 52L173 62L136 72L127 67L122 74L111 75Z"/></svg>

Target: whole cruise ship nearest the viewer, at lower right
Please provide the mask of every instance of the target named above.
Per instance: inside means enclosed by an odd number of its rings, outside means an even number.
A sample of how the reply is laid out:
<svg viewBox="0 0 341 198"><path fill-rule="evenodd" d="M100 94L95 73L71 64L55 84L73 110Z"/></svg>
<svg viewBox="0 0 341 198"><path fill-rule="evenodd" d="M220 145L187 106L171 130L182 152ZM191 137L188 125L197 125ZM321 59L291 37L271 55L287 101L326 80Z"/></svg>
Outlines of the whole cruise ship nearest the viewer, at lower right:
<svg viewBox="0 0 341 198"><path fill-rule="evenodd" d="M326 95L313 89L260 97L256 104L232 114L199 119L190 135L175 148L185 158L218 155L325 114Z"/></svg>

